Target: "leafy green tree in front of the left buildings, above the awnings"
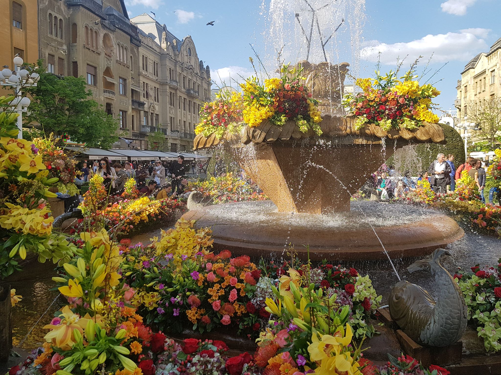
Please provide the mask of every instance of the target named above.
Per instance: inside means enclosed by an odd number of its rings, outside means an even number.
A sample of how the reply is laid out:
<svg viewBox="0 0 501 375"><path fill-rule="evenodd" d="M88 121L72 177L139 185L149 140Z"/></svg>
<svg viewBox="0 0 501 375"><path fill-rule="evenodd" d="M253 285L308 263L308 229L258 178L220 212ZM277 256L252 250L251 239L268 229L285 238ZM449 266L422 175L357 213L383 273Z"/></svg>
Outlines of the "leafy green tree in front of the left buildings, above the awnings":
<svg viewBox="0 0 501 375"><path fill-rule="evenodd" d="M95 100L89 99L84 77L40 74L37 87L29 89L30 111L23 116L25 126L35 126L45 134L66 132L72 141L89 147L110 148L118 140L118 120Z"/></svg>

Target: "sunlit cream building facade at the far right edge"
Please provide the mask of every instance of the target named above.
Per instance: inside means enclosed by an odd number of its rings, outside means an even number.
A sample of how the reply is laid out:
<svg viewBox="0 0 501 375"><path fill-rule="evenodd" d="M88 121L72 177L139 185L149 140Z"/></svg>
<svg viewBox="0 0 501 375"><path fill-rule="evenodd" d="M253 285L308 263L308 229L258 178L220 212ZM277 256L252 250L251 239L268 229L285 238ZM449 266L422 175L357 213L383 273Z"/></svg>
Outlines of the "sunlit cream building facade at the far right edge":
<svg viewBox="0 0 501 375"><path fill-rule="evenodd" d="M488 52L478 53L468 61L461 72L461 79L457 81L456 90L454 106L457 108L457 123L464 121L468 107L501 97L501 38L492 44ZM459 127L458 131L464 134L464 128ZM474 132L472 140L480 140Z"/></svg>

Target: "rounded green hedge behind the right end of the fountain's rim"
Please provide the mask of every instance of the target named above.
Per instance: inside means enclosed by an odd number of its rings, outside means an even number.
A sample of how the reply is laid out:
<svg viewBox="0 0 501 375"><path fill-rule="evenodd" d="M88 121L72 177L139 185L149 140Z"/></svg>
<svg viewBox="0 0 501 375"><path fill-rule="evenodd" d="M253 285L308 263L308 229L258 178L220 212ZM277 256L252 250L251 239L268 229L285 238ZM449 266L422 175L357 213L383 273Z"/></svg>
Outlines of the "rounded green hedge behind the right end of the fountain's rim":
<svg viewBox="0 0 501 375"><path fill-rule="evenodd" d="M438 153L445 155L454 155L454 165L459 166L465 160L464 141L459 133L452 127L446 124L439 124L445 134L445 143L420 143L405 146L397 149L386 161L386 165L394 165L399 174L403 174L405 170L410 170L412 175L417 175L421 170L428 169L428 166L436 159ZM386 141L388 147L391 147L391 141Z"/></svg>

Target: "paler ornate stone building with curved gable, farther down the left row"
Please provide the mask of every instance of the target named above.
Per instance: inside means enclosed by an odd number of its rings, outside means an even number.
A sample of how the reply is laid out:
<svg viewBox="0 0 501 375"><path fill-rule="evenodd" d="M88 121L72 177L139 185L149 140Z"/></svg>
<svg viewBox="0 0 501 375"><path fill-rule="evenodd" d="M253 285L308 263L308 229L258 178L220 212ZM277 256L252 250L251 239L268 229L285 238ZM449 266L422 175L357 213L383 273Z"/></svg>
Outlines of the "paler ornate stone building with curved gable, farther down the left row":
<svg viewBox="0 0 501 375"><path fill-rule="evenodd" d="M159 128L168 149L191 148L200 104L210 96L210 69L198 59L190 35L180 40L147 13L131 18L139 28L139 83L145 108L142 134ZM136 133L134 133L136 134Z"/></svg>

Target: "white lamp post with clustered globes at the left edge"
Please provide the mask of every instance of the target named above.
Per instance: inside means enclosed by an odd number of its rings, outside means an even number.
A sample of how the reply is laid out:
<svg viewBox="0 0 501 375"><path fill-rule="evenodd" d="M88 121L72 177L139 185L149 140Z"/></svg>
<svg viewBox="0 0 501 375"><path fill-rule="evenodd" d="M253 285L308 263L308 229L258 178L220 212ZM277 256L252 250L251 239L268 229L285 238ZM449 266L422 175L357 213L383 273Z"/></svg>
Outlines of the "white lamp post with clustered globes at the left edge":
<svg viewBox="0 0 501 375"><path fill-rule="evenodd" d="M15 97L10 102L10 106L19 113L18 116L18 138L23 138L23 112L28 111L28 106L30 105L30 98L23 97L22 89L26 86L37 86L37 81L40 75L37 72L30 72L22 68L23 59L20 56L14 57L14 70L9 68L2 69L0 71L0 85L11 86L15 89Z"/></svg>

